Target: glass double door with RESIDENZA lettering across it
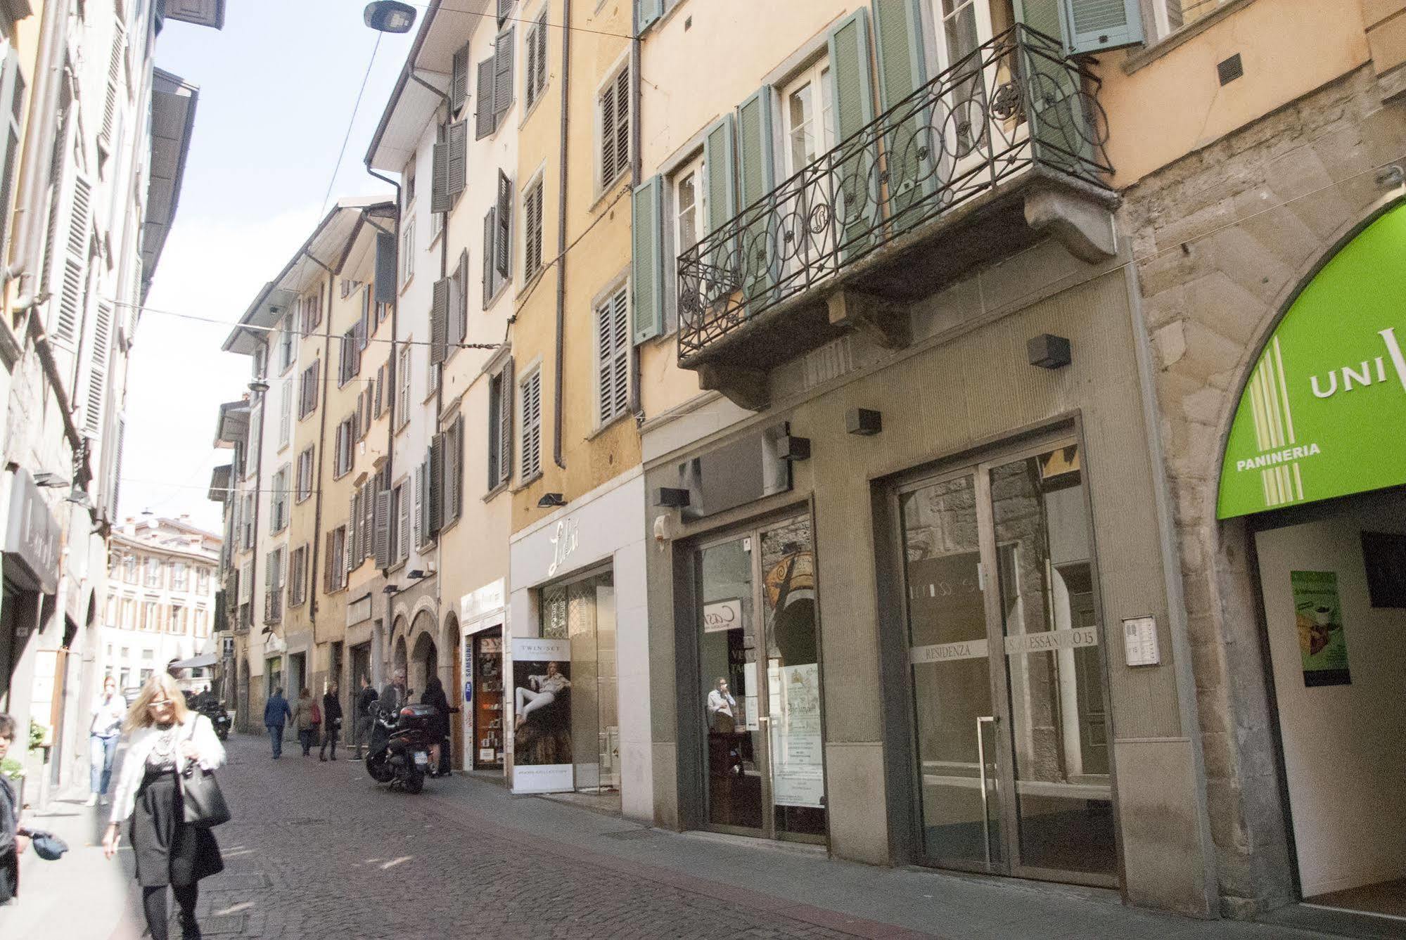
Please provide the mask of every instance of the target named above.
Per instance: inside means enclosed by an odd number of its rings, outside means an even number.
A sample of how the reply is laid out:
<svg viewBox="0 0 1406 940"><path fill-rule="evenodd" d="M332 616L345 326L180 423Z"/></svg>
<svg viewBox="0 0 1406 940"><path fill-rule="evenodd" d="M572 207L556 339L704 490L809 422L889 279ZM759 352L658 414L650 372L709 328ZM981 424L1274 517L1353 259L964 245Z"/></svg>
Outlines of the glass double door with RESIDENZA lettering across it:
<svg viewBox="0 0 1406 940"><path fill-rule="evenodd" d="M1109 719L1083 452L1074 440L896 493L920 854L1118 880Z"/></svg>

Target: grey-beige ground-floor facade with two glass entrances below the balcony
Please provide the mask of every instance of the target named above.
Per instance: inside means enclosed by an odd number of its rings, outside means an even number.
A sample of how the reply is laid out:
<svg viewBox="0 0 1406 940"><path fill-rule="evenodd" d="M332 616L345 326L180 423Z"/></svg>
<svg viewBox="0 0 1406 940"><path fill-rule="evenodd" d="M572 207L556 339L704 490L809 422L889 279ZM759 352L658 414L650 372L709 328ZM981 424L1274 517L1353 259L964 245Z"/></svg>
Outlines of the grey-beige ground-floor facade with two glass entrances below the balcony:
<svg viewBox="0 0 1406 940"><path fill-rule="evenodd" d="M1209 912L1132 289L1046 242L645 423L659 825Z"/></svg>

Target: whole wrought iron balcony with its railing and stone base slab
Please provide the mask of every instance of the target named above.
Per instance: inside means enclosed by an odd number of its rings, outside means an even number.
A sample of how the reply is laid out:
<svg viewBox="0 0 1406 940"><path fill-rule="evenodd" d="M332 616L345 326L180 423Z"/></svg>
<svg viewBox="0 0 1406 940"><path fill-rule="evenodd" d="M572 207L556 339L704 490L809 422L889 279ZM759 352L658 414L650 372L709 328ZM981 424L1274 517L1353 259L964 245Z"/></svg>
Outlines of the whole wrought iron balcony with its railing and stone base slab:
<svg viewBox="0 0 1406 940"><path fill-rule="evenodd" d="M845 329L841 289L915 299L1018 250L1036 185L1111 201L1098 86L1024 25L976 48L679 256L679 364L763 370Z"/></svg>

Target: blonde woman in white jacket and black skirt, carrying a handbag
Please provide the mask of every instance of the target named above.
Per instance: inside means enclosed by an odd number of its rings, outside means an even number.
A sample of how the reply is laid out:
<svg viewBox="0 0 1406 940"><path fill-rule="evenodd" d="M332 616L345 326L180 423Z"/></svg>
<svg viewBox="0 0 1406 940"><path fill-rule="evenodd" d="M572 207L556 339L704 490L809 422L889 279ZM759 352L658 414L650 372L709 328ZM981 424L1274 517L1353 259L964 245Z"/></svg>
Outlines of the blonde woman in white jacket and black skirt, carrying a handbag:
<svg viewBox="0 0 1406 940"><path fill-rule="evenodd" d="M152 940L166 940L166 888L180 905L181 937L200 939L195 902L200 880L224 871L219 844L209 829L183 818L177 777L191 763L215 770L225 763L225 748L205 715L186 708L186 697L169 673L152 676L127 712L127 757L112 799L112 815L103 833L103 854L117 854L122 821L131 819L128 837L142 885L142 910Z"/></svg>

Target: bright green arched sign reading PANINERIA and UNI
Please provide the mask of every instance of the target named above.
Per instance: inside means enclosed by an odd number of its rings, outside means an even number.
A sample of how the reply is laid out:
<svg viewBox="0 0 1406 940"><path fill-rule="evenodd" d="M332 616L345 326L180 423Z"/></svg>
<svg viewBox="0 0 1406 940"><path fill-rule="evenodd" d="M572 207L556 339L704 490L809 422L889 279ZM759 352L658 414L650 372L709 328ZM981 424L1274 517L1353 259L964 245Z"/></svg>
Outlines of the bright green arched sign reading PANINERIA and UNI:
<svg viewBox="0 0 1406 940"><path fill-rule="evenodd" d="M1219 518L1406 483L1406 205L1284 315L1240 395Z"/></svg>

